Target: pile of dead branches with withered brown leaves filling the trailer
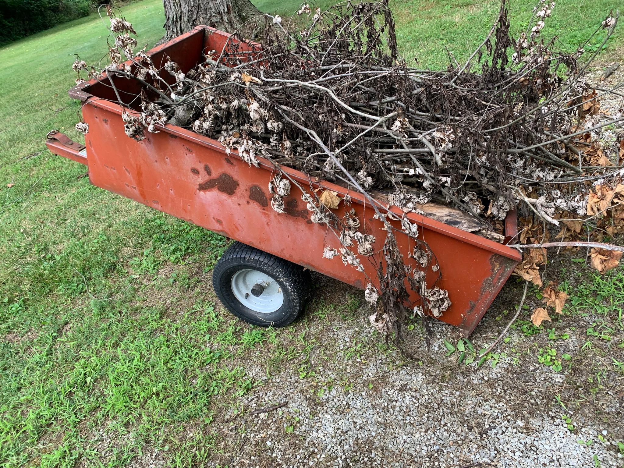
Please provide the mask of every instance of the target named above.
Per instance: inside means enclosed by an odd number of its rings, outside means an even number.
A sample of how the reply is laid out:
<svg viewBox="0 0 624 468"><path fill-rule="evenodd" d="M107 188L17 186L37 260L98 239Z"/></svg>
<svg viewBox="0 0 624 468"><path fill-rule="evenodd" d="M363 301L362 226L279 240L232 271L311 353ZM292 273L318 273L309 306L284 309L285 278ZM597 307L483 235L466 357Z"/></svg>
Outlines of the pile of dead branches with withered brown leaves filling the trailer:
<svg viewBox="0 0 624 468"><path fill-rule="evenodd" d="M167 123L179 125L217 139L250 165L265 157L276 167L294 167L366 195L385 190L406 213L430 200L450 203L495 230L520 206L530 213L521 226L522 243L547 241L543 223L561 228L563 241L587 240L587 222L593 228L602 223L600 233L613 237L624 232L624 144L618 147L613 139L605 145L600 136L623 117L600 113L600 97L617 91L594 89L585 71L612 36L617 14L597 25L592 38L602 37L601 43L587 56L583 45L566 52L555 39L542 39L554 8L540 1L526 31L512 37L503 0L469 59L459 63L449 53L449 66L441 71L409 67L399 56L385 0L344 2L327 12L304 4L288 20L266 15L260 42L235 33L223 51L207 51L205 61L189 71L173 61L157 68L145 49L135 52L134 29L109 11L109 63L87 67L77 60L74 69L79 80L87 71L89 77L105 74L112 87L112 76L144 85L140 109L132 111L119 99L127 109L126 133L137 140ZM278 212L290 182L278 178L270 187ZM330 220L325 208L331 203L311 195L305 201L313 221L331 224L345 246L326 255L339 254L358 268L358 254L369 254L374 238L358 232L359 224L349 225L357 220ZM404 232L410 230L404 223ZM442 313L450 304L444 292L414 281L388 237L385 257L402 275L390 281L380 271L382 289L369 289L368 296L377 300L394 290L396 297L387 302L400 303L404 284L414 283L436 298L424 308L431 311L435 303ZM357 254L349 250L353 240ZM522 268L533 267L539 264ZM524 270L522 276L534 277Z"/></svg>

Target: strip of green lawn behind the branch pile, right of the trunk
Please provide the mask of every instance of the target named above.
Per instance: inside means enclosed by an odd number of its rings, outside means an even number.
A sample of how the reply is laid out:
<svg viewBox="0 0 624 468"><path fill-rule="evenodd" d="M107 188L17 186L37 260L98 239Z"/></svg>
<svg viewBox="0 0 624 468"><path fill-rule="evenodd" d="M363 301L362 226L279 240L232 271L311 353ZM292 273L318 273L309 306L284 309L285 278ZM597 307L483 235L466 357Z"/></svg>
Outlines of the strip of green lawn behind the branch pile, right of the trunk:
<svg viewBox="0 0 624 468"><path fill-rule="evenodd" d="M261 11L288 17L297 11L299 0L275 2L255 0ZM335 1L310 2L321 9L335 4ZM510 1L512 32L515 36L525 31L537 1ZM492 27L499 0L391 0L397 22L397 39L402 54L408 60L417 60L421 67L440 68L449 64L447 50L464 61L483 41ZM543 36L558 36L560 46L573 52L587 41L592 32L600 26L610 10L617 9L617 0L560 0L556 1L552 16L546 19ZM620 6L621 8L621 6ZM604 36L597 34L585 47L595 51ZM608 51L622 51L622 29L615 34L608 45Z"/></svg>

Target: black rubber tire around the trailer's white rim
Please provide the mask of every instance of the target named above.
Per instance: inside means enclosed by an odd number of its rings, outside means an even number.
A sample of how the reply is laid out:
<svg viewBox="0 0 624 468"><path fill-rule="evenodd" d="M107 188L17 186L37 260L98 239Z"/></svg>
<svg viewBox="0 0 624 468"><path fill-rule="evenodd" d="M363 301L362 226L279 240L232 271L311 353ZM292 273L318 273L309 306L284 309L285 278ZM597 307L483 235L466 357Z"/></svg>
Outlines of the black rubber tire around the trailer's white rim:
<svg viewBox="0 0 624 468"><path fill-rule="evenodd" d="M251 268L271 276L284 294L282 306L271 313L261 313L243 305L232 292L232 276ZM223 305L238 318L258 326L286 326L305 309L310 295L310 271L283 258L235 242L217 262L212 272L212 285Z"/></svg>

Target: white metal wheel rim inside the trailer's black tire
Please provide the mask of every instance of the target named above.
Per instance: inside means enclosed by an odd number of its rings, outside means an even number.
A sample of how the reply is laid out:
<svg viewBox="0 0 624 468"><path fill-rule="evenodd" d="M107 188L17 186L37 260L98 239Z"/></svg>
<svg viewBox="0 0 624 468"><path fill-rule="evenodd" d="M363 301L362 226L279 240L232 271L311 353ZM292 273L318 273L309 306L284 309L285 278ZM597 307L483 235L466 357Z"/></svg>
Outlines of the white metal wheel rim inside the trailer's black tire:
<svg viewBox="0 0 624 468"><path fill-rule="evenodd" d="M260 296L251 293L254 285L263 288ZM278 310L284 303L284 293L277 281L258 270L238 270L230 280L232 292L238 301L255 312L270 314Z"/></svg>

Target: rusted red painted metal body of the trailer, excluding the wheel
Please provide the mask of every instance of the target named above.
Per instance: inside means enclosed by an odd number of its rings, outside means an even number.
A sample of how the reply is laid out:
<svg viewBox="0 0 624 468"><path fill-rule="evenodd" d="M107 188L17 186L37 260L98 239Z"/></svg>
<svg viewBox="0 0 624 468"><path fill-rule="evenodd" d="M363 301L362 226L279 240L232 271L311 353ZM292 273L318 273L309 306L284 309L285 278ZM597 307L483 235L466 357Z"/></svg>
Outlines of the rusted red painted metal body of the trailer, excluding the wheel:
<svg viewBox="0 0 624 468"><path fill-rule="evenodd" d="M227 34L200 26L153 49L150 54L157 67L170 56L187 72L203 59L203 51L220 51L226 41ZM127 80L119 79L116 85L127 93L138 91ZM351 196L350 208L361 220L368 220L366 229L376 237L377 253L364 257L364 271L358 272L343 265L339 257L323 258L325 246L340 248L341 244L328 227L308 219L310 213L305 206L300 207L302 194L297 188L293 187L285 200L286 213L263 209L268 200L261 187L268 187L273 177L270 162L258 158L260 168L250 167L236 152L227 155L219 142L173 125L159 127L157 134L150 134L149 139L141 142L132 140L124 133L121 109L112 92L109 85L95 80L72 90L72 95L91 104L83 106L83 118L89 124L85 162L91 183L358 288L369 282L378 285L376 275L379 262L383 263L381 249L385 235L381 229L383 223L373 218L373 210L363 195L323 180L315 182L305 173L283 168L306 190L323 187L334 190L339 197ZM100 125L103 119L108 119L110 125ZM84 159L54 140L47 145L55 154L81 162ZM208 173L206 165L210 174L218 176L202 182L198 173L200 168ZM122 166L126 170L109 169ZM158 200L158 204L152 205L150 200ZM401 213L396 207L389 211ZM341 217L344 207L334 212ZM442 275L437 285L449 292L452 301L451 308L440 319L470 334L521 260L520 254L432 218L416 213L407 216L419 225L419 237L436 255ZM400 229L399 223L393 223ZM406 262L415 266L409 258L414 241L398 233L397 245ZM433 283L437 275L429 270L427 280ZM412 292L410 300L415 305L419 297Z"/></svg>

